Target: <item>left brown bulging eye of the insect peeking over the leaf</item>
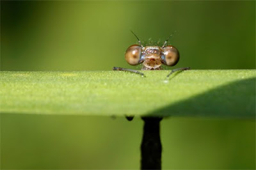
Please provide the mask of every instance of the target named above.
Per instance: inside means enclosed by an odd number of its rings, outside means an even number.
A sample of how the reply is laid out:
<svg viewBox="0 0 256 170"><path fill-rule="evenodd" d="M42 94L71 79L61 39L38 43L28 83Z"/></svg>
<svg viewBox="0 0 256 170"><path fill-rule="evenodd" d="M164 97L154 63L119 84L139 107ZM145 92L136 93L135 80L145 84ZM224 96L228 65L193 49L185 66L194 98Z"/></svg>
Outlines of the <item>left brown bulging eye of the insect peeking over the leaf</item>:
<svg viewBox="0 0 256 170"><path fill-rule="evenodd" d="M141 46L131 45L125 52L125 60L130 65L138 65L141 63Z"/></svg>

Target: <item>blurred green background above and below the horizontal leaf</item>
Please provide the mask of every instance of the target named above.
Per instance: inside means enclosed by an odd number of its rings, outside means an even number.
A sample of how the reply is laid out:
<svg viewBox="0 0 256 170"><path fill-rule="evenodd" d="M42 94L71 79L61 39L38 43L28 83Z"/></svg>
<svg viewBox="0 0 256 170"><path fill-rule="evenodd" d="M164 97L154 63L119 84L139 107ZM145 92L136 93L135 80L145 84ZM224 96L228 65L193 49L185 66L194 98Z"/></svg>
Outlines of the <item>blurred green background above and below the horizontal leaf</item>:
<svg viewBox="0 0 256 170"><path fill-rule="evenodd" d="M1 70L134 68L130 30L163 42L175 32L173 68L255 69L255 1L1 1ZM138 169L142 127L1 114L1 169ZM255 169L255 120L168 118L161 138L163 169Z"/></svg>

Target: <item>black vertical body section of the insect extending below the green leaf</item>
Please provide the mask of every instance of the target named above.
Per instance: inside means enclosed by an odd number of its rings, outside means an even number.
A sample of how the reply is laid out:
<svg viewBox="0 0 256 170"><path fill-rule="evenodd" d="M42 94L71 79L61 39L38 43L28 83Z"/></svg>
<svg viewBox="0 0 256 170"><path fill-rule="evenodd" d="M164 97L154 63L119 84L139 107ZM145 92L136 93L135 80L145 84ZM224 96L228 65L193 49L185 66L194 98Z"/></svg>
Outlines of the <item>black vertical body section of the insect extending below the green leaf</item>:
<svg viewBox="0 0 256 170"><path fill-rule="evenodd" d="M162 145L160 121L163 118L144 117L143 139L141 143L141 169L161 169Z"/></svg>

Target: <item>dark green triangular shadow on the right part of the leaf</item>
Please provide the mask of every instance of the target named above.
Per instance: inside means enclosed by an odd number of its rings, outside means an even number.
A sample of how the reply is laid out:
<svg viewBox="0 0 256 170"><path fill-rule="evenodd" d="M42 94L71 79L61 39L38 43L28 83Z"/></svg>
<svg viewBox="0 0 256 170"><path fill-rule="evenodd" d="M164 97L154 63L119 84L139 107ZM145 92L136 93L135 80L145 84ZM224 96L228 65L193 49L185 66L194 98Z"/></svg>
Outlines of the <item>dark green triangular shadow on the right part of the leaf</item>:
<svg viewBox="0 0 256 170"><path fill-rule="evenodd" d="M147 114L147 116L170 115L255 118L255 77L211 89Z"/></svg>

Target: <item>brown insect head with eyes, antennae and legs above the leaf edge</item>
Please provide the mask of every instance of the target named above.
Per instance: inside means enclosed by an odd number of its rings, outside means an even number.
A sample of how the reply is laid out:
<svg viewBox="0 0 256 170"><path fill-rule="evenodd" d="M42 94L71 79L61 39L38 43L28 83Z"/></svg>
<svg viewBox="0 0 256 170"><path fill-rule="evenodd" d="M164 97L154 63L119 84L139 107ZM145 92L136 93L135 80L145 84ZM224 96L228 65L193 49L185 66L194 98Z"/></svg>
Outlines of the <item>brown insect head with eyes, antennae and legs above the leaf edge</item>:
<svg viewBox="0 0 256 170"><path fill-rule="evenodd" d="M136 35L134 34L134 36ZM143 47L139 38L137 36L136 38L138 39L140 45L131 45L125 52L125 60L130 65L139 65L142 63L143 67L141 70L163 70L161 65L174 66L179 62L179 50L177 50L173 45L166 45L170 37L164 42L162 47ZM113 70L134 72L145 76L143 73L137 70L128 68L113 67ZM174 69L167 75L167 77L169 77L173 72L177 72L179 70L189 70L189 67Z"/></svg>

